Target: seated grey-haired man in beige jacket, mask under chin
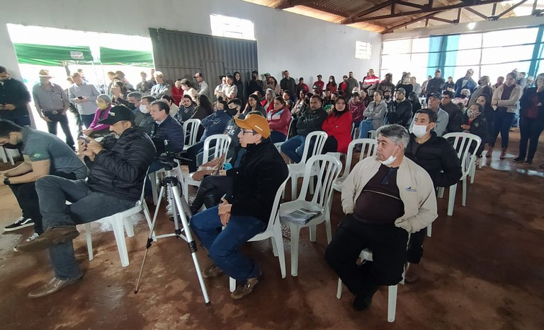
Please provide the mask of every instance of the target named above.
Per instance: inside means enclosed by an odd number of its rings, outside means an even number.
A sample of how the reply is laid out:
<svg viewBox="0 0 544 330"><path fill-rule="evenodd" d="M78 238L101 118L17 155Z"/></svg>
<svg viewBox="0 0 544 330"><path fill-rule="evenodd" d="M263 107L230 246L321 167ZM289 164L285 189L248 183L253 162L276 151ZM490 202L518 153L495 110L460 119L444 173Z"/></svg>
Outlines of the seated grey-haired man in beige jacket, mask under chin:
<svg viewBox="0 0 544 330"><path fill-rule="evenodd" d="M409 232L417 232L436 219L436 196L429 174L404 158L407 130L381 126L378 155L361 160L342 185L346 217L325 251L329 265L356 295L353 308L370 307L378 285L402 280ZM356 263L363 249L372 262Z"/></svg>

